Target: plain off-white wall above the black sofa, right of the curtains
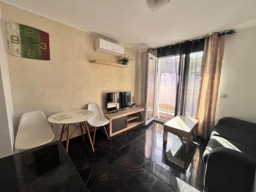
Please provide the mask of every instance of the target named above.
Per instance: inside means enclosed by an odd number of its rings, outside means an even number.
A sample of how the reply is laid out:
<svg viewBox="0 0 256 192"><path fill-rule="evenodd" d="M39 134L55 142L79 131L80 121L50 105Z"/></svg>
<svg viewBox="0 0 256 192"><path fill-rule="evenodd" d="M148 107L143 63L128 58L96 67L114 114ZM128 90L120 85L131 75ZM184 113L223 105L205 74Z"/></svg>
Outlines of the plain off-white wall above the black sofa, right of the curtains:
<svg viewBox="0 0 256 192"><path fill-rule="evenodd" d="M216 118L256 123L256 27L226 36Z"/></svg>

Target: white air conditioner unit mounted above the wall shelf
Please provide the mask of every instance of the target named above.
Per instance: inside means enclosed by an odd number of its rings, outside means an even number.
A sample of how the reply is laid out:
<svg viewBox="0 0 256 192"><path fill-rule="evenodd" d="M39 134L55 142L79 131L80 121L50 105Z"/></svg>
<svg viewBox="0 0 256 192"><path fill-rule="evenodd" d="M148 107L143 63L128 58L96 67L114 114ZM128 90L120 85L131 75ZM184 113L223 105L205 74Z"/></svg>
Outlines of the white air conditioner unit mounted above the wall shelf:
<svg viewBox="0 0 256 192"><path fill-rule="evenodd" d="M96 38L95 51L120 57L124 54L124 47L101 38Z"/></svg>

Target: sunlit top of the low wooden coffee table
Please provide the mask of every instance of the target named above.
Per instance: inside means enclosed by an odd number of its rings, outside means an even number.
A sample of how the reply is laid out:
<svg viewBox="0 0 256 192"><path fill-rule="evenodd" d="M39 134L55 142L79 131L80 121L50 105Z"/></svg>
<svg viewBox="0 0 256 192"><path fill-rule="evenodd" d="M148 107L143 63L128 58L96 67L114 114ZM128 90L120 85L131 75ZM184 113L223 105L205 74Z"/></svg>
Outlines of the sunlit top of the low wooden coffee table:
<svg viewBox="0 0 256 192"><path fill-rule="evenodd" d="M164 127L167 126L169 128L183 131L183 132L191 132L195 125L198 123L198 120L193 117L185 117L182 115L177 115L173 119L170 119L166 123L164 123Z"/></svg>

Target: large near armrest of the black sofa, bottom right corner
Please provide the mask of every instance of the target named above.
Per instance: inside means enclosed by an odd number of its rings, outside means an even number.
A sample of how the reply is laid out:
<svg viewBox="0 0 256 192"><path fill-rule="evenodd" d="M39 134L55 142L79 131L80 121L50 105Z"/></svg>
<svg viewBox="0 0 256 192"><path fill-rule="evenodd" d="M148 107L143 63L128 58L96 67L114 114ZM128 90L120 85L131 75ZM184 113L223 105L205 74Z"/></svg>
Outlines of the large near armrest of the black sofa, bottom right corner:
<svg viewBox="0 0 256 192"><path fill-rule="evenodd" d="M204 186L209 192L251 192L256 159L225 147L218 147L208 156Z"/></svg>

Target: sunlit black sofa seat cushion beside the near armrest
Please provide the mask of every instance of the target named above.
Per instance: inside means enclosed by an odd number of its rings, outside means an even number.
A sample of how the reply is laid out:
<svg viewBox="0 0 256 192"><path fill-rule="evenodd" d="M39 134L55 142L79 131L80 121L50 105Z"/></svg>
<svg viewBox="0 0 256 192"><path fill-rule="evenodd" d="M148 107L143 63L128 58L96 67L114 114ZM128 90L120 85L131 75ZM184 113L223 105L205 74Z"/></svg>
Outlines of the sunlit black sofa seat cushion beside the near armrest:
<svg viewBox="0 0 256 192"><path fill-rule="evenodd" d="M207 158L211 150L216 147L226 147L226 148L230 148L231 150L235 150L241 153L246 153L250 156L256 157L256 150L254 150L253 148L236 141L232 141L229 139L225 139L223 137L213 135L211 136L209 142L207 143L207 146L203 154L204 163L207 162Z"/></svg>

